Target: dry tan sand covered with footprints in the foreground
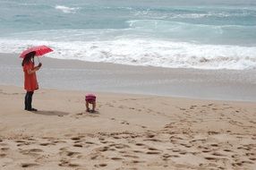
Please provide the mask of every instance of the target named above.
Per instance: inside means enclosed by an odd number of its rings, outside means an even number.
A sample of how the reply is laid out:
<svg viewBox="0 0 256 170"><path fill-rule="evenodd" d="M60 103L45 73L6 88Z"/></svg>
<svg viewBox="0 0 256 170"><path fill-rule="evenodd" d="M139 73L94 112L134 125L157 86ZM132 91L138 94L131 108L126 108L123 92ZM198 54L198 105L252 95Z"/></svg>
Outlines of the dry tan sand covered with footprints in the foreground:
<svg viewBox="0 0 256 170"><path fill-rule="evenodd" d="M0 169L255 169L255 102L0 86Z"/></svg>

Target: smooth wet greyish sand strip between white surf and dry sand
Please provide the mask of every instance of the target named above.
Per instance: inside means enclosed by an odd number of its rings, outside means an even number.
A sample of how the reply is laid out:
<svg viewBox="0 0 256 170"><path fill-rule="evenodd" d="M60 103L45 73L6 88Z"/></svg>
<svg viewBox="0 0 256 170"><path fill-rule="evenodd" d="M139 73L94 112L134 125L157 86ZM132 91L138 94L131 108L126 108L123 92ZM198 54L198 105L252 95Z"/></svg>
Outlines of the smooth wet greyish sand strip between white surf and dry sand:
<svg viewBox="0 0 256 170"><path fill-rule="evenodd" d="M41 57L40 89L72 89L233 101L256 101L256 71L171 69ZM37 60L36 60L37 62ZM0 54L3 85L22 87L21 58Z"/></svg>

